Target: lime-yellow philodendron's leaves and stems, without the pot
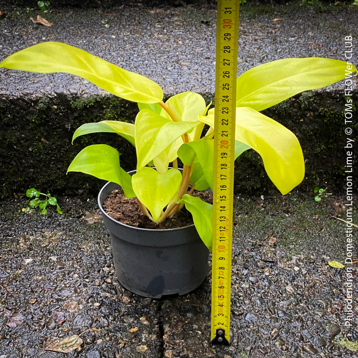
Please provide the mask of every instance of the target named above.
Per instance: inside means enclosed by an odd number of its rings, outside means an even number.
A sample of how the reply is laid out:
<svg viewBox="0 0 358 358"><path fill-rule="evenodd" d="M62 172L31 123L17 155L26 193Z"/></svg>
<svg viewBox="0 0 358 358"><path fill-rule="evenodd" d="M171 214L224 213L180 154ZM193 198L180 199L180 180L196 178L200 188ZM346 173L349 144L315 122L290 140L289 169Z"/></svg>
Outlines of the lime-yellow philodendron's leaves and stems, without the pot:
<svg viewBox="0 0 358 358"><path fill-rule="evenodd" d="M209 249L212 206L192 196L213 185L214 110L202 96L184 92L163 101L162 88L83 50L44 42L7 57L0 67L37 73L65 72L91 81L123 99L138 102L135 123L101 121L81 125L79 136L113 132L136 148L137 172L120 166L119 152L108 145L89 145L68 171L79 171L118 183L127 197L137 197L145 215L161 222L184 205ZM354 67L354 66L353 66ZM346 62L325 58L287 58L256 66L237 78L235 156L256 150L269 177L282 194L304 177L301 146L290 130L260 113L289 97L340 81ZM354 71L356 69L354 68ZM225 107L225 103L218 103ZM204 126L209 130L204 133ZM177 169L177 159L184 164Z"/></svg>

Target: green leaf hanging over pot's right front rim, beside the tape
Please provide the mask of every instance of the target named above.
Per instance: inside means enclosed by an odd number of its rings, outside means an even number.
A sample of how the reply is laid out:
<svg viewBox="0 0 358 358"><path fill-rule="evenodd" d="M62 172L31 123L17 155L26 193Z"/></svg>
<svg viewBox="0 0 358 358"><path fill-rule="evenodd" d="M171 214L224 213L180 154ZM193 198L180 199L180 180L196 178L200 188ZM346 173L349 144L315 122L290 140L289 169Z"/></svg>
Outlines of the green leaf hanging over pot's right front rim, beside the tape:
<svg viewBox="0 0 358 358"><path fill-rule="evenodd" d="M194 225L200 238L211 251L213 241L213 206L199 197L184 194L180 200L193 216Z"/></svg>

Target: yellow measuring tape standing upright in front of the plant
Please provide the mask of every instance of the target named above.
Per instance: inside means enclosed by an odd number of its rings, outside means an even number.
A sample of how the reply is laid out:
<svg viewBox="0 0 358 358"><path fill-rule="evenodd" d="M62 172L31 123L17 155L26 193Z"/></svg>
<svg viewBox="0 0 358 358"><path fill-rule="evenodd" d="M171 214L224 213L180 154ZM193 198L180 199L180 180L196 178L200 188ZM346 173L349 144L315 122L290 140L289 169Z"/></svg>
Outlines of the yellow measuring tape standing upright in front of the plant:
<svg viewBox="0 0 358 358"><path fill-rule="evenodd" d="M217 7L211 341L229 344L239 0Z"/></svg>

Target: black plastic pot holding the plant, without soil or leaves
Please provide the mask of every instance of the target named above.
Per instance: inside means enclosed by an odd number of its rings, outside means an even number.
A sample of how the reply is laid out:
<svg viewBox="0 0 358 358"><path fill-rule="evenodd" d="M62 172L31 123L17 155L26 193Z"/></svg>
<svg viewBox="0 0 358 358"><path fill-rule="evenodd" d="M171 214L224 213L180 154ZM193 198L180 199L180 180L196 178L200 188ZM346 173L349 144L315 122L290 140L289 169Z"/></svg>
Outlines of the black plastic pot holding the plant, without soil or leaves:
<svg viewBox="0 0 358 358"><path fill-rule="evenodd" d="M98 195L109 230L116 274L130 292L151 298L184 295L205 279L209 250L194 225L168 230L141 229L110 217L102 207L119 185L108 182Z"/></svg>

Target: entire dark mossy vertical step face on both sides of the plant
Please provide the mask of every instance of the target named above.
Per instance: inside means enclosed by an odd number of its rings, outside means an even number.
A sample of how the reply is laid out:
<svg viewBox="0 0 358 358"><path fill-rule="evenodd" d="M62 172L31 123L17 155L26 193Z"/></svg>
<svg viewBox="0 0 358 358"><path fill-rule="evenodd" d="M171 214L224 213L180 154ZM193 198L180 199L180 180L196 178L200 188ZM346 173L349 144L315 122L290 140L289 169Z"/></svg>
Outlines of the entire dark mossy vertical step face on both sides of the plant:
<svg viewBox="0 0 358 358"><path fill-rule="evenodd" d="M207 98L208 103L211 98ZM358 95L353 98L358 103ZM339 94L303 93L264 111L292 130L303 148L306 178L299 186L309 191L316 185L330 192L343 190L345 164L344 103ZM115 96L65 96L52 98L0 98L0 197L13 192L24 193L29 187L50 190L54 195L82 192L95 194L101 181L66 170L75 155L89 144L105 143L121 153L121 166L135 167L135 149L113 133L82 136L71 144L75 129L83 123L102 120L133 122L138 113L136 103ZM356 108L353 108L356 116ZM352 135L358 141L357 135ZM354 159L353 175L358 163ZM244 152L235 163L235 194L277 193L264 170L260 156Z"/></svg>

